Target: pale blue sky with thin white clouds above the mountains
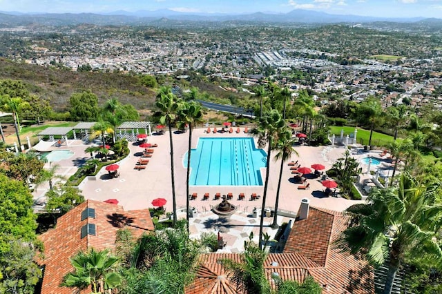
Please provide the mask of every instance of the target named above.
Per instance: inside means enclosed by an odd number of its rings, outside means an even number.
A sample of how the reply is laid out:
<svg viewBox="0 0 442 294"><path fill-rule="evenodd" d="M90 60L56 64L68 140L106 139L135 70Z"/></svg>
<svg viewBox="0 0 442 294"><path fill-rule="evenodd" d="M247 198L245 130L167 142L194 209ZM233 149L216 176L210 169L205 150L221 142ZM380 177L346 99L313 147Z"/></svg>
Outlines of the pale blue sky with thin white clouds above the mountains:
<svg viewBox="0 0 442 294"><path fill-rule="evenodd" d="M309 9L374 17L437 17L442 0L0 0L1 11L113 12L171 9L182 12L250 13Z"/></svg>

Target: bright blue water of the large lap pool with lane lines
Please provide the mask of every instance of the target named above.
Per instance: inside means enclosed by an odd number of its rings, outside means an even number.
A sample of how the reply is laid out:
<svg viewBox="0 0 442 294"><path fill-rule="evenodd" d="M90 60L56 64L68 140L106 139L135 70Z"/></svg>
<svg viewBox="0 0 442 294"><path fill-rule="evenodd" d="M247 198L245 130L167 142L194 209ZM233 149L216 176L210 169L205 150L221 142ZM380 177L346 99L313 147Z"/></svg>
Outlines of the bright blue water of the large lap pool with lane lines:
<svg viewBox="0 0 442 294"><path fill-rule="evenodd" d="M192 186L262 186L267 154L253 138L200 138L191 150ZM184 167L187 156L184 155Z"/></svg>

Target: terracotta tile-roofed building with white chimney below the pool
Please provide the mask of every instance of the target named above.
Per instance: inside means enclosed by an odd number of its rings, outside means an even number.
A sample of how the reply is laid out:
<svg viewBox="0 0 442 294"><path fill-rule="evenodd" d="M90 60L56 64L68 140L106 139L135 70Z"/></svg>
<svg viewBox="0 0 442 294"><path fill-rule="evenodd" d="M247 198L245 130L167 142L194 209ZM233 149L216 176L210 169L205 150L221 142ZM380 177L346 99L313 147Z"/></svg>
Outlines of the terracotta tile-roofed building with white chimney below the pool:
<svg viewBox="0 0 442 294"><path fill-rule="evenodd" d="M282 280L304 282L311 276L323 287L323 293L374 293L373 270L365 259L341 252L335 241L347 227L343 213L322 208L304 207L291 228L283 253L270 253L265 260L265 273L274 287L273 275ZM220 259L240 262L239 253L206 253L186 294L241 293L229 280Z"/></svg>

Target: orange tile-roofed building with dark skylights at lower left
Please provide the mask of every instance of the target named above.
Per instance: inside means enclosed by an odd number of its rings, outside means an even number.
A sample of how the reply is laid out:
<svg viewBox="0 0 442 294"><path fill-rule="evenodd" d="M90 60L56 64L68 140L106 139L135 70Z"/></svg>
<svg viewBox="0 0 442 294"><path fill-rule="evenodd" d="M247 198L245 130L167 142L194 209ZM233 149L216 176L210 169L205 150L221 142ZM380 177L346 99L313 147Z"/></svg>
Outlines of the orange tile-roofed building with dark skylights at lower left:
<svg viewBox="0 0 442 294"><path fill-rule="evenodd" d="M57 219L57 226L39 236L44 243L44 266L41 294L71 294L72 288L59 286L64 275L73 271L70 257L79 251L95 248L115 250L115 235L128 228L135 237L153 231L148 209L124 211L122 206L87 200ZM84 291L81 293L90 293Z"/></svg>

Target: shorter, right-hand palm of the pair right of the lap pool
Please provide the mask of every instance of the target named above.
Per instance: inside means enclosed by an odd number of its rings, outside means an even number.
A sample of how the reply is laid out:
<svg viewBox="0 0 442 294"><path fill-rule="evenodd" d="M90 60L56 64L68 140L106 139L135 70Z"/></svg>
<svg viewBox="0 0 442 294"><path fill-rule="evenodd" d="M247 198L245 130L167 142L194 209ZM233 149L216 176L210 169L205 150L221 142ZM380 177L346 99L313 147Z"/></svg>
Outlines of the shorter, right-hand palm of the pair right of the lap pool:
<svg viewBox="0 0 442 294"><path fill-rule="evenodd" d="M279 193L281 188L282 170L284 168L284 163L291 157L293 153L296 154L296 156L298 156L298 152L296 152L296 150L294 150L293 148L294 144L295 140L293 139L293 137L291 137L291 130L285 127L284 130L280 131L278 141L275 142L275 147L274 147L276 150L278 150L275 159L281 160L281 166L279 170L278 188L276 189L275 214L273 215L273 224L271 224L273 228L278 227L278 203L279 203Z"/></svg>

